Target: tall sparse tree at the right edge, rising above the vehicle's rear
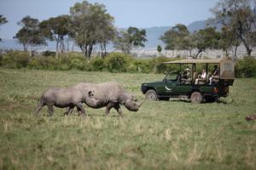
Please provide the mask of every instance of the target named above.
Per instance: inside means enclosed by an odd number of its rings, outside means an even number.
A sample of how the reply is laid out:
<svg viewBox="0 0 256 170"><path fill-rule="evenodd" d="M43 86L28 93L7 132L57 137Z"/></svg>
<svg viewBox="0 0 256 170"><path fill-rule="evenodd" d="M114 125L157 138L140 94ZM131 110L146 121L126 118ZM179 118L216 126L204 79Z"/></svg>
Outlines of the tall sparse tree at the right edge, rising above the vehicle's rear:
<svg viewBox="0 0 256 170"><path fill-rule="evenodd" d="M248 55L251 55L256 46L255 8L255 0L221 0L211 9L215 18L227 30L234 31L237 42L244 44Z"/></svg>

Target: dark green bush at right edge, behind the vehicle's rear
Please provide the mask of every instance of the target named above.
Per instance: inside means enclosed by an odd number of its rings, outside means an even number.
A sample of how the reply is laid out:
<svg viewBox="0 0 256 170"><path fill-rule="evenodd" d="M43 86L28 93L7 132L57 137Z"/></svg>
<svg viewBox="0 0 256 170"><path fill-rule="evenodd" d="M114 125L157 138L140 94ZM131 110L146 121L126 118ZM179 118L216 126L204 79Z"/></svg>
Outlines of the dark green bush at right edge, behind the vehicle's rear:
<svg viewBox="0 0 256 170"><path fill-rule="evenodd" d="M244 57L236 62L236 77L256 77L256 59Z"/></svg>

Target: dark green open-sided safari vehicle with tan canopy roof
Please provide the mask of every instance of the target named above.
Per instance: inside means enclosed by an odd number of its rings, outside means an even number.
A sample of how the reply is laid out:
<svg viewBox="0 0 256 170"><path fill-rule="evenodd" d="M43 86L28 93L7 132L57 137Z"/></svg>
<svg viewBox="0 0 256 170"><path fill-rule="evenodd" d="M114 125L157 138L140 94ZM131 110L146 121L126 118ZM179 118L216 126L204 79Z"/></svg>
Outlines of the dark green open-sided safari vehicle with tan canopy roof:
<svg viewBox="0 0 256 170"><path fill-rule="evenodd" d="M169 100L178 97L191 99L192 103L201 103L229 95L229 86L233 85L235 78L235 63L232 60L181 59L166 62L166 65L169 64L179 65L178 71L169 71L162 81L142 84L142 92L147 99ZM186 80L181 72L184 66L190 70ZM211 72L213 67L218 67L218 75ZM206 78L199 78L198 69L206 71Z"/></svg>

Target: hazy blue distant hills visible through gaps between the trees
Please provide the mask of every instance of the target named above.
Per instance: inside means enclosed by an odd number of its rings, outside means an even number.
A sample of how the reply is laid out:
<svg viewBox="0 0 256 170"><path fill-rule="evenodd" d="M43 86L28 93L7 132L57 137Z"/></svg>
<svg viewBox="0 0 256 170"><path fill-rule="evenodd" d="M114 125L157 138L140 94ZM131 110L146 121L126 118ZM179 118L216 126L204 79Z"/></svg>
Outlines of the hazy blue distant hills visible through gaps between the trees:
<svg viewBox="0 0 256 170"><path fill-rule="evenodd" d="M209 20L198 20L192 22L188 26L188 30L190 32L198 31L201 29L205 29L209 26L215 26L217 29L220 29L220 25L213 23L208 24ZM154 26L149 28L143 28L147 31L147 39L148 42L145 42L145 48L156 48L158 45L164 47L164 43L160 41L160 36L164 35L166 31L170 30L172 26ZM14 39L3 39L3 42L0 42L0 48L15 48L22 49L22 45L16 42ZM49 50L55 50L55 42L49 42L48 47L42 47Z"/></svg>

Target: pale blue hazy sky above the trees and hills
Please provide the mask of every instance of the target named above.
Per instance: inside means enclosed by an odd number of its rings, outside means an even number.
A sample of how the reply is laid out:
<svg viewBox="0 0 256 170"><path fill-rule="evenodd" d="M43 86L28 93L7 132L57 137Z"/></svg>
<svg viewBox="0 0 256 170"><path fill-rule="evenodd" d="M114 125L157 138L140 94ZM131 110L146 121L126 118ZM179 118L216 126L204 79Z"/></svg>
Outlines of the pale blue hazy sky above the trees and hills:
<svg viewBox="0 0 256 170"><path fill-rule="evenodd" d="M195 20L212 17L209 11L218 0L88 0L103 3L114 19L114 25L127 28L152 26L188 26ZM12 38L20 30L17 22L30 15L40 21L61 14L82 0L0 0L0 14L9 22L0 27L0 37Z"/></svg>

